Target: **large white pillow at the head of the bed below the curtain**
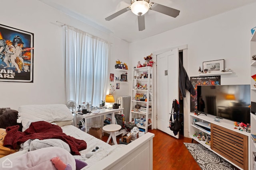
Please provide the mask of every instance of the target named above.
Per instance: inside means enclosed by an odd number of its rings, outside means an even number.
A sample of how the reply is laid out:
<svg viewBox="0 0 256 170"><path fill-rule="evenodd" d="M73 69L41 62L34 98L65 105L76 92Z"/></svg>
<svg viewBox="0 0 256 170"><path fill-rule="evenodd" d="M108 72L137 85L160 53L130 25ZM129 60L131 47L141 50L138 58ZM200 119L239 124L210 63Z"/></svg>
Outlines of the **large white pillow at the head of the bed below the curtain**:
<svg viewBox="0 0 256 170"><path fill-rule="evenodd" d="M48 123L73 120L72 111L65 104L24 105L18 108L18 112L23 127L26 127L28 121L34 119L40 119Z"/></svg>

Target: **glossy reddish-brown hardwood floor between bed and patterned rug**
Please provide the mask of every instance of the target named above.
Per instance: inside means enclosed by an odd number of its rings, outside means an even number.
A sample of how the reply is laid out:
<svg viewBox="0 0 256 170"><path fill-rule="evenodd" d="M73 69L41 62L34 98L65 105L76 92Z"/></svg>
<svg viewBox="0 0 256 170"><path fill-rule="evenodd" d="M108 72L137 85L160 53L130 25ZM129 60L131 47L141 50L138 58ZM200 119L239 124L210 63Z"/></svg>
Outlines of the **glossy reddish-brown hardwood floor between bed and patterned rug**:
<svg viewBox="0 0 256 170"><path fill-rule="evenodd" d="M155 134L153 138L154 170L201 170L184 145L184 142L191 143L190 138L180 135L180 139L176 139L157 129L148 129L148 131ZM117 136L118 143L120 137ZM108 135L104 135L102 140L106 142Z"/></svg>

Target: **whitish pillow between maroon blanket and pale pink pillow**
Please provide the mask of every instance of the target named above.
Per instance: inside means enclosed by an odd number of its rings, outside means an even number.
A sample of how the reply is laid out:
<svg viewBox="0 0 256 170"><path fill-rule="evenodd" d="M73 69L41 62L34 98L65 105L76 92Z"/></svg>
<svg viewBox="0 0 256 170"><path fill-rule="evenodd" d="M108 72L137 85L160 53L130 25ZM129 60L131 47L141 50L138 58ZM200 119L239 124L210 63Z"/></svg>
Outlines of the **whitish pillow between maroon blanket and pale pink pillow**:
<svg viewBox="0 0 256 170"><path fill-rule="evenodd" d="M35 139L30 143L30 151L47 147L60 147L70 152L68 144L60 139Z"/></svg>

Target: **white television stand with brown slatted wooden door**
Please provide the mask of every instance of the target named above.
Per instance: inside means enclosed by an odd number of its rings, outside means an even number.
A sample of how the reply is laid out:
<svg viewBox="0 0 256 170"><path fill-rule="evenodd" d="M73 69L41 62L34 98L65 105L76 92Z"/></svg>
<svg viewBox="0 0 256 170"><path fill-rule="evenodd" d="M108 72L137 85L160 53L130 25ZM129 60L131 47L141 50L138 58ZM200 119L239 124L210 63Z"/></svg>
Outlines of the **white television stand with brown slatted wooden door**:
<svg viewBox="0 0 256 170"><path fill-rule="evenodd" d="M234 129L234 121L223 118L220 122L216 122L214 121L215 117L209 114L197 116L191 112L190 137L234 166L250 170L250 158L252 157L249 152L250 133ZM199 133L204 134L208 139L210 137L210 142L200 141Z"/></svg>

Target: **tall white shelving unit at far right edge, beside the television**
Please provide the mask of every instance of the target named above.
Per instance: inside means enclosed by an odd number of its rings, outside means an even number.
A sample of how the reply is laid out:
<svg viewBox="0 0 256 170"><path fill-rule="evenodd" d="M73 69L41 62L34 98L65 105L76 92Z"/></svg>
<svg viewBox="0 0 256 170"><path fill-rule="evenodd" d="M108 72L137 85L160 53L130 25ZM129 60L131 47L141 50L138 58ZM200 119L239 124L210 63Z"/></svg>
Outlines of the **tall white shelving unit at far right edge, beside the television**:
<svg viewBox="0 0 256 170"><path fill-rule="evenodd" d="M250 65L250 74L251 76L256 74L256 61L252 60L252 56L256 55L256 34L252 35L251 41L250 41L250 58L251 58L251 65ZM256 88L254 88L256 81L254 81L251 78L251 102L256 102ZM251 134L256 134L256 115L251 113ZM253 165L255 166L256 162L253 160L254 155L253 152L256 152L256 143L253 142L253 140L250 137L250 169L253 168Z"/></svg>

